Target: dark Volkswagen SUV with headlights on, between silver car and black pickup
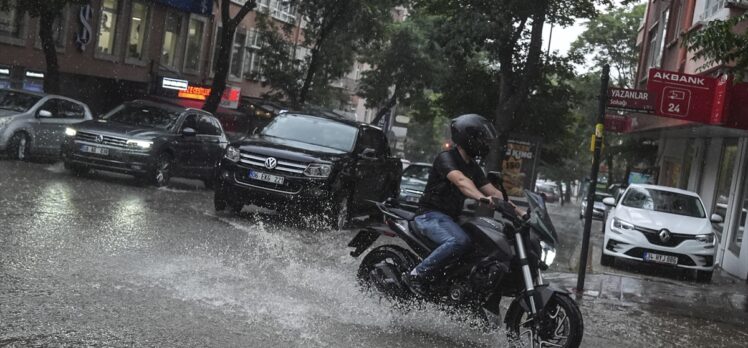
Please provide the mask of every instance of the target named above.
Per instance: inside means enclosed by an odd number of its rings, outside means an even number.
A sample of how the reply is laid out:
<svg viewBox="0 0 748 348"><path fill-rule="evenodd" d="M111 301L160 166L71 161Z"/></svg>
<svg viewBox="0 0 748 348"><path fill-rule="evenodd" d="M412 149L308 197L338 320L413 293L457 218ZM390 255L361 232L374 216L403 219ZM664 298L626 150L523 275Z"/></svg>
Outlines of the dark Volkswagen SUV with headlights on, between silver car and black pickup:
<svg viewBox="0 0 748 348"><path fill-rule="evenodd" d="M172 176L202 179L210 186L228 144L210 113L145 100L124 103L65 132L65 168L132 174L157 186L167 185Z"/></svg>

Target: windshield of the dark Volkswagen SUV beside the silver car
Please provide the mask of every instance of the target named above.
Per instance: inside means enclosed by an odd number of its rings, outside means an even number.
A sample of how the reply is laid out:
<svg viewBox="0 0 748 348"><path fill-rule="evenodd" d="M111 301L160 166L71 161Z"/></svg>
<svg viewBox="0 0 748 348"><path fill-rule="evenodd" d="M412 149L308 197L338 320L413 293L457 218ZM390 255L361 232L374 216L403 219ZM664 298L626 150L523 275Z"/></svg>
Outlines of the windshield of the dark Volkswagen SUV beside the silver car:
<svg viewBox="0 0 748 348"><path fill-rule="evenodd" d="M168 130L177 123L179 113L155 105L123 104L101 118L131 126Z"/></svg>

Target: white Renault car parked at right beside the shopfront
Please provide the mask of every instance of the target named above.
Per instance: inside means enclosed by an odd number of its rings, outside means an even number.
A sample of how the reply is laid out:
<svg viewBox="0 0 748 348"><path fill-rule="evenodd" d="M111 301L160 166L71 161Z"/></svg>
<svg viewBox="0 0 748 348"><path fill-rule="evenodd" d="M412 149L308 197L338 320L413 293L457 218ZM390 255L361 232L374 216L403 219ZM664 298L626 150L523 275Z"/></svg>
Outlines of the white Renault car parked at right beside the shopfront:
<svg viewBox="0 0 748 348"><path fill-rule="evenodd" d="M717 240L712 222L722 217L706 209L698 194L665 186L631 185L611 208L605 222L601 263L615 258L696 270L696 279L709 282L714 271Z"/></svg>

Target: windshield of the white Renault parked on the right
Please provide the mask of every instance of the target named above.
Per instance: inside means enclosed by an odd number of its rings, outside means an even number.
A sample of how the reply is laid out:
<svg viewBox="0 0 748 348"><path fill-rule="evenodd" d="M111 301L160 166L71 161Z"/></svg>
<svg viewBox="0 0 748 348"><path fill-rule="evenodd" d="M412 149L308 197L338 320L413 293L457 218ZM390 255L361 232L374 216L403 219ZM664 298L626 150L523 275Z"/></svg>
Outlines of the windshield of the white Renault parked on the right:
<svg viewBox="0 0 748 348"><path fill-rule="evenodd" d="M704 218L704 207L698 197L677 192L632 187L622 204L631 208Z"/></svg>

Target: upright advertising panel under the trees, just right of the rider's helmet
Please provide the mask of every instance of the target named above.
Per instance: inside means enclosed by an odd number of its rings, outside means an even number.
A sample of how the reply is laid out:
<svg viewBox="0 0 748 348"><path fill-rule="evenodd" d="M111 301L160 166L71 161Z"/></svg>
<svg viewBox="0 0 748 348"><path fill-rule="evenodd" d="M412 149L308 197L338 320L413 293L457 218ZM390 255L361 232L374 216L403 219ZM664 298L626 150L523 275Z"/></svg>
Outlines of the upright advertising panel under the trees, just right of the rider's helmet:
<svg viewBox="0 0 748 348"><path fill-rule="evenodd" d="M501 163L504 187L509 196L521 197L525 189L532 189L535 165L540 151L540 141L509 139Z"/></svg>

